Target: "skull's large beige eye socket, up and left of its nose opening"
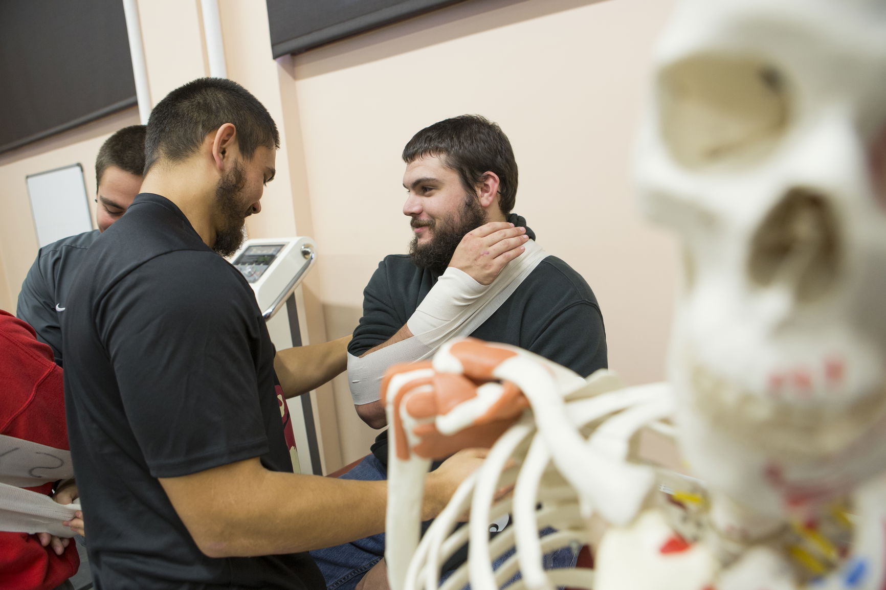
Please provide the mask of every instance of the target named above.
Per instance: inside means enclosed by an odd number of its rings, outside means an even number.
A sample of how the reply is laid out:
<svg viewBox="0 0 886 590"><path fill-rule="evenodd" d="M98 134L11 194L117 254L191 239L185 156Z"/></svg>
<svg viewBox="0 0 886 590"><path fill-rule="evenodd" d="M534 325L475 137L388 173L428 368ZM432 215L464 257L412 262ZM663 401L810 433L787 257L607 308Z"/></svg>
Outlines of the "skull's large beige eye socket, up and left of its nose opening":
<svg viewBox="0 0 886 590"><path fill-rule="evenodd" d="M681 166L748 167L788 128L789 89L759 58L695 56L660 74L658 115L664 144Z"/></svg>

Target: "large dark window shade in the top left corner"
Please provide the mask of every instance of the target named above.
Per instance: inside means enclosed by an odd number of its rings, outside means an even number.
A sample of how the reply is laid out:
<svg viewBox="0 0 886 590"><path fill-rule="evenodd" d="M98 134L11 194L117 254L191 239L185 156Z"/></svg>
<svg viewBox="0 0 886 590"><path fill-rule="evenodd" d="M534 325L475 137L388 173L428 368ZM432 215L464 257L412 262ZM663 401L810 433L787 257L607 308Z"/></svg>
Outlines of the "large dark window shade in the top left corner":
<svg viewBox="0 0 886 590"><path fill-rule="evenodd" d="M120 0L0 0L0 153L136 104Z"/></svg>

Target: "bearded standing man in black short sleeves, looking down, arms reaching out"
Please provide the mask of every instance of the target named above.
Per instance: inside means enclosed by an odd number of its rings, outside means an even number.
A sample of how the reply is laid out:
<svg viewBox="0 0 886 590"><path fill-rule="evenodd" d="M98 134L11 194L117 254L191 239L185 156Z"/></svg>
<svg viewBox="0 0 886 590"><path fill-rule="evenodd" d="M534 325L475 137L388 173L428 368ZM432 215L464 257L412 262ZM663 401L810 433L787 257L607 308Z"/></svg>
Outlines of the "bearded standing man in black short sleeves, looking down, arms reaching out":
<svg viewBox="0 0 886 590"><path fill-rule="evenodd" d="M173 90L148 122L143 192L70 292L67 421L98 589L318 588L308 549L384 529L384 484L291 473L275 369L284 390L312 389L343 368L325 360L342 341L275 358L219 255L259 213L278 145L236 82ZM428 516L479 455L431 479Z"/></svg>

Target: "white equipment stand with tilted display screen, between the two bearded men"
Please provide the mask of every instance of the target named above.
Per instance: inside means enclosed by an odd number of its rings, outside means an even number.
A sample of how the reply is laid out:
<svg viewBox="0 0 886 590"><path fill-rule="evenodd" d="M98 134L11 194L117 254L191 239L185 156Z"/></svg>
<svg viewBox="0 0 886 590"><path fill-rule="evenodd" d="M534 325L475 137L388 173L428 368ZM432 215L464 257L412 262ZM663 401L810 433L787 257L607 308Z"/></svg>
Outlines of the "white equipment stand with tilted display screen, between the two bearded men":
<svg viewBox="0 0 886 590"><path fill-rule="evenodd" d="M230 258L255 291L262 317L277 350L307 343L304 300L299 285L314 265L315 243L310 237L280 237L246 240ZM277 314L283 307L285 314ZM319 446L319 421L315 416L315 392L288 400L295 432L299 465L298 473L323 475Z"/></svg>

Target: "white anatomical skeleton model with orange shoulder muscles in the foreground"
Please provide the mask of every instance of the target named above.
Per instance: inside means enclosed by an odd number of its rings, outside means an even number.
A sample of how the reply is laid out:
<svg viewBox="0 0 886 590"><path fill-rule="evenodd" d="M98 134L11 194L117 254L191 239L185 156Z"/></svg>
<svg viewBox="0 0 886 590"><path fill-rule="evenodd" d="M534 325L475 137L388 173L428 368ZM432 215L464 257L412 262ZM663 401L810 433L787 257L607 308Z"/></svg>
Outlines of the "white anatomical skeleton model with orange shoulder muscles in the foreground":
<svg viewBox="0 0 886 590"><path fill-rule="evenodd" d="M641 205L687 278L669 380L471 340L392 368L393 590L438 586L466 540L445 588L886 587L886 2L685 0L654 67ZM642 429L698 479L642 462ZM429 460L493 442L419 543ZM595 571L543 571L593 516Z"/></svg>

